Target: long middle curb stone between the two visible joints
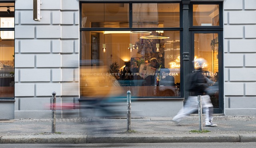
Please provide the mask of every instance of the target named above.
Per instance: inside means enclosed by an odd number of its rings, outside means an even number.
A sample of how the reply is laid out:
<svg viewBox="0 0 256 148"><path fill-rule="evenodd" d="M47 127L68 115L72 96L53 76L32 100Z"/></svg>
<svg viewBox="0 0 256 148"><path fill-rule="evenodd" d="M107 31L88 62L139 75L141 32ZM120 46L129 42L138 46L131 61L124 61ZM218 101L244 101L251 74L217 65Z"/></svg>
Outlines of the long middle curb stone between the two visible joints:
<svg viewBox="0 0 256 148"><path fill-rule="evenodd" d="M174 135L96 135L88 143L175 143L175 142L240 142L238 134L174 134Z"/></svg>

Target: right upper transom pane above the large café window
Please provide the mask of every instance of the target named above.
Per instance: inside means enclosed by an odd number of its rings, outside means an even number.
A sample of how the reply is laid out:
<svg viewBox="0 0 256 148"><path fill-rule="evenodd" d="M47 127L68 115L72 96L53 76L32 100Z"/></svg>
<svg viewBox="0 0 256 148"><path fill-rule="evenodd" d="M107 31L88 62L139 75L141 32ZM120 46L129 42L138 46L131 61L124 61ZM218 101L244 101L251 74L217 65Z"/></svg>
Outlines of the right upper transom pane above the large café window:
<svg viewBox="0 0 256 148"><path fill-rule="evenodd" d="M180 27L179 3L132 4L133 28Z"/></svg>

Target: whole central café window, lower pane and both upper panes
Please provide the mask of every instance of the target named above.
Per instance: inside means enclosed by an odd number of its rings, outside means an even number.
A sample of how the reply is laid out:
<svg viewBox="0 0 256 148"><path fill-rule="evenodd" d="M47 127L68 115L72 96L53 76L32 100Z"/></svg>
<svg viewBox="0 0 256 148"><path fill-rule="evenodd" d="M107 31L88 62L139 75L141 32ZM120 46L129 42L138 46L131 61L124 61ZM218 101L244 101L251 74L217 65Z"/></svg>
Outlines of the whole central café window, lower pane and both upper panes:
<svg viewBox="0 0 256 148"><path fill-rule="evenodd" d="M126 97L128 90L180 97L180 31L170 29L180 27L180 3L82 3L81 10L81 97Z"/></svg>

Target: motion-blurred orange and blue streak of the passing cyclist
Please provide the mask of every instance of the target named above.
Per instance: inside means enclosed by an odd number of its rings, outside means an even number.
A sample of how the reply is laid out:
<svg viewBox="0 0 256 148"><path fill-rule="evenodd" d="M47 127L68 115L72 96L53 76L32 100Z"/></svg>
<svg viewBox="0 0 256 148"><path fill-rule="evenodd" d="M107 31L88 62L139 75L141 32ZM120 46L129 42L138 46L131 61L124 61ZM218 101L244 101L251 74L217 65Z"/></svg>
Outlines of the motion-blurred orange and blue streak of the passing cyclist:
<svg viewBox="0 0 256 148"><path fill-rule="evenodd" d="M119 111L126 109L126 99L121 97L125 94L124 87L106 66L100 63L80 65L80 108L92 110L87 116L120 116ZM125 115L123 113L121 116Z"/></svg>

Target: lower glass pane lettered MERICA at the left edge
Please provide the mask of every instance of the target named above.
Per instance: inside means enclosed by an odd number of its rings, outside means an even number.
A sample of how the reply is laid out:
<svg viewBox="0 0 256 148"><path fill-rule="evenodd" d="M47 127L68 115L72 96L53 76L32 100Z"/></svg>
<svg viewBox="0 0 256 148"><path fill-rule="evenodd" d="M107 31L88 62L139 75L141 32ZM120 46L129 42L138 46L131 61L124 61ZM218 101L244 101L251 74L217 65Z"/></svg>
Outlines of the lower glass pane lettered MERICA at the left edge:
<svg viewBox="0 0 256 148"><path fill-rule="evenodd" d="M0 42L0 98L14 97L14 40Z"/></svg>

